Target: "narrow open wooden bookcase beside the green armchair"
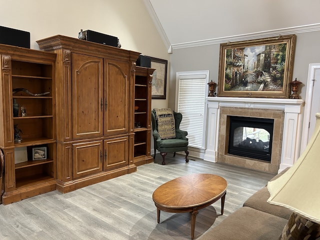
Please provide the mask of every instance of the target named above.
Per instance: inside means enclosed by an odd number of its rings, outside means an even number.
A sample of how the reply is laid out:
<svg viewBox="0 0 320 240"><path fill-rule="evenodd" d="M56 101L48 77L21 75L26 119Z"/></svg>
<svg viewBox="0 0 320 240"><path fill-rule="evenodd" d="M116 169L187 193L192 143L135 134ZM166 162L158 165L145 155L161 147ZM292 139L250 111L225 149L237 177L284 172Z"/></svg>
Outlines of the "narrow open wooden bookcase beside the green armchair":
<svg viewBox="0 0 320 240"><path fill-rule="evenodd" d="M136 66L134 80L134 164L153 161L151 141L151 84L155 69Z"/></svg>

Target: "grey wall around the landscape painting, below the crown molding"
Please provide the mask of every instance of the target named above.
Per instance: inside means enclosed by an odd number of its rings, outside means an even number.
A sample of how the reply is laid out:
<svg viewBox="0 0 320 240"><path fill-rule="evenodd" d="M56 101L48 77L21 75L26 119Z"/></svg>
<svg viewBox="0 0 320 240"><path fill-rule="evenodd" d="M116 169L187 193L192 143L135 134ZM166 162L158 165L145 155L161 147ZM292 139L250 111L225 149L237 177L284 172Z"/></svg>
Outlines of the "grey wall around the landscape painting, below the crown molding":
<svg viewBox="0 0 320 240"><path fill-rule="evenodd" d="M293 80L303 82L299 94L305 99L309 63L320 63L320 30L296 34ZM169 107L174 108L175 73L177 71L209 70L209 80L217 82L219 44L174 49L170 57ZM217 88L216 88L217 90Z"/></svg>

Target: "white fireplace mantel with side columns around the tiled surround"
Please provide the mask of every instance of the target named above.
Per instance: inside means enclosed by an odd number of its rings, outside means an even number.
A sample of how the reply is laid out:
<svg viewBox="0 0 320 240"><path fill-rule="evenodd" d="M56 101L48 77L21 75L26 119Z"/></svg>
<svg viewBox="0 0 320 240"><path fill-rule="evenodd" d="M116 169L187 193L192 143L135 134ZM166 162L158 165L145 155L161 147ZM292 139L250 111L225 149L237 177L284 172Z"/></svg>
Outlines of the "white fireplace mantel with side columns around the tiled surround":
<svg viewBox="0 0 320 240"><path fill-rule="evenodd" d="M204 160L216 162L221 106L276 109L284 111L281 160L278 172L297 160L301 140L302 99L207 97L207 135Z"/></svg>

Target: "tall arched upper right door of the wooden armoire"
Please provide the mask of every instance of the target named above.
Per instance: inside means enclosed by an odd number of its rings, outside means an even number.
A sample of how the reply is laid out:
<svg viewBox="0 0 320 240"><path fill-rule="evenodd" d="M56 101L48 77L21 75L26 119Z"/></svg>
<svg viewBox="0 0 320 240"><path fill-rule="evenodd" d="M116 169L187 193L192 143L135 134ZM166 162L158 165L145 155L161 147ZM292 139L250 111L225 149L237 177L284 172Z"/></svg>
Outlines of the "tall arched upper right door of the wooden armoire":
<svg viewBox="0 0 320 240"><path fill-rule="evenodd" d="M104 59L104 134L128 132L128 62Z"/></svg>

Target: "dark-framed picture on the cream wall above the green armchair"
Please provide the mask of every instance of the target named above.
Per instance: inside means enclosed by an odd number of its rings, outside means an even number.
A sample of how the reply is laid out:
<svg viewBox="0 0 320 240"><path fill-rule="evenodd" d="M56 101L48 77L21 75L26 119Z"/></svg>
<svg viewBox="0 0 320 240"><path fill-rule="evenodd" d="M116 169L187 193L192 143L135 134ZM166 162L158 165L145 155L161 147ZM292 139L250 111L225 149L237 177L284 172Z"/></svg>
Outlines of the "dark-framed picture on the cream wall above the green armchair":
<svg viewBox="0 0 320 240"><path fill-rule="evenodd" d="M166 98L166 73L168 61L148 56L151 59L151 68L154 68L152 77L151 95L153 99Z"/></svg>

